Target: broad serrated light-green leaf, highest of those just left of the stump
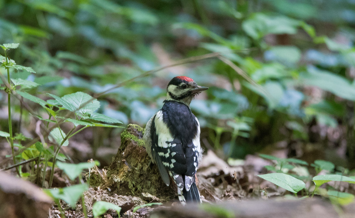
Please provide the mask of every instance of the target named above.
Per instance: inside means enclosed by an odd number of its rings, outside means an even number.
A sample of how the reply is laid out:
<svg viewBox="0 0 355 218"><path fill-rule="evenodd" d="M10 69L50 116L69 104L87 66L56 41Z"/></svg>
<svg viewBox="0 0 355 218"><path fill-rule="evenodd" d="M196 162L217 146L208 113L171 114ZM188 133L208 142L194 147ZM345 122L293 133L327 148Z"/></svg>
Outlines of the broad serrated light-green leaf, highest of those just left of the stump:
<svg viewBox="0 0 355 218"><path fill-rule="evenodd" d="M97 99L84 92L66 94L63 97L58 97L54 94L49 95L55 98L63 106L63 108L76 113L80 112L83 115L93 114L94 111L100 107L100 102L97 101Z"/></svg>

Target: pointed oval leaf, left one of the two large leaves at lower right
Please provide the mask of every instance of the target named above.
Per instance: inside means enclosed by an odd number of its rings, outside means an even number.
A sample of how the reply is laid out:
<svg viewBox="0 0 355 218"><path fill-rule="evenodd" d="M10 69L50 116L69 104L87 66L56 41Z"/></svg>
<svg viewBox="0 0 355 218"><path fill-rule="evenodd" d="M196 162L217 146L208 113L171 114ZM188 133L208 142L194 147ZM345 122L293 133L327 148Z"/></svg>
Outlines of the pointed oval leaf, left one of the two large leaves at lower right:
<svg viewBox="0 0 355 218"><path fill-rule="evenodd" d="M293 193L297 193L306 187L306 184L302 180L296 179L285 173L268 173L258 175L258 177L268 180L269 182Z"/></svg>

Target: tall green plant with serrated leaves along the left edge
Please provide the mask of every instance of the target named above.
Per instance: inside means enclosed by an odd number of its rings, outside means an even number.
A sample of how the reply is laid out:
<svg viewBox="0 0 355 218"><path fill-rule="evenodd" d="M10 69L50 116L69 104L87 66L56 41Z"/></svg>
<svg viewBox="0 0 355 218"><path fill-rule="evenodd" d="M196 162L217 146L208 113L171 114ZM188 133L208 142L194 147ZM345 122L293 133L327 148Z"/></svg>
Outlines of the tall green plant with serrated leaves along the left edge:
<svg viewBox="0 0 355 218"><path fill-rule="evenodd" d="M16 167L16 172L19 177L34 177L32 179L37 184L45 187L45 175L47 167L51 167L48 187L50 188L53 182L54 168L56 161L65 161L67 157L60 153L62 146L69 145L68 139L91 126L100 127L120 127L112 124L122 124L119 120L96 113L95 111L100 107L100 102L91 97L89 94L83 92L75 92L59 97L54 94L48 93L48 96L54 99L44 101L41 98L29 94L29 90L38 87L39 84L24 80L24 79L11 79L11 73L16 73L17 70L26 70L30 73L35 73L31 67L23 67L17 65L15 61L9 58L8 50L17 48L19 44L4 44L0 47L4 50L5 56L0 55L1 67L5 68L7 72L7 79L1 75L1 80L4 86L0 88L7 93L8 96L8 110L9 110L9 132L0 131L0 136L5 137L12 150L13 165L7 167L5 170ZM21 133L13 135L12 120L11 120L11 97L20 99L21 104L27 112L35 117L35 119L42 121L40 123L40 132L37 138L26 138ZM42 106L44 113L36 113L23 102L22 98L35 102ZM71 122L73 127L65 133L60 125L64 122ZM110 124L105 124L105 123ZM30 140L26 145L22 145L24 141ZM17 143L15 143L17 142ZM50 142L53 145L48 145ZM19 150L15 152L14 147ZM21 166L29 163L31 167L30 173L22 173ZM42 178L42 179L41 179Z"/></svg>

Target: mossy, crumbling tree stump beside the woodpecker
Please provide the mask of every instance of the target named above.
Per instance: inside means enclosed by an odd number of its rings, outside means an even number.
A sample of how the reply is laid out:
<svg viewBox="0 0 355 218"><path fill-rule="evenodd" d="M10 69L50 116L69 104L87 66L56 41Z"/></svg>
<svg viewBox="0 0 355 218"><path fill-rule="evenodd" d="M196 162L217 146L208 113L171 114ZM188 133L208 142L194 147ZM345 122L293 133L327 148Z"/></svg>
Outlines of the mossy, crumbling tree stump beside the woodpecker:
<svg viewBox="0 0 355 218"><path fill-rule="evenodd" d="M119 195L146 201L177 199L173 182L167 187L156 165L151 163L143 141L143 128L130 124L121 134L121 146L107 171L110 188Z"/></svg>

